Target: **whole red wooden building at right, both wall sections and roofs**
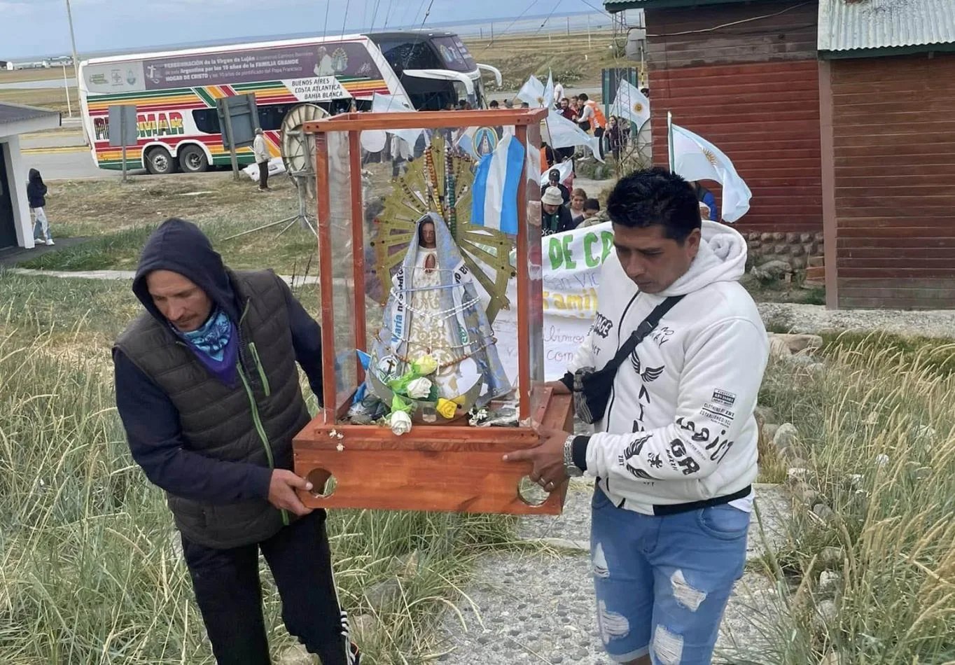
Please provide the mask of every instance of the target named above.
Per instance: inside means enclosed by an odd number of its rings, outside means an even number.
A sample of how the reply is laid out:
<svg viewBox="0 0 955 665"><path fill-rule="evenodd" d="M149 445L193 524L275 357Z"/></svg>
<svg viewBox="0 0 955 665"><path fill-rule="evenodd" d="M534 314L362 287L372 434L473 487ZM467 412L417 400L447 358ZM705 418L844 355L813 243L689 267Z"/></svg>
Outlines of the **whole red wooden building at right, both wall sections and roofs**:
<svg viewBox="0 0 955 665"><path fill-rule="evenodd" d="M755 256L824 247L832 308L955 308L955 1L605 7L646 12L654 155L668 110L726 152Z"/></svg>

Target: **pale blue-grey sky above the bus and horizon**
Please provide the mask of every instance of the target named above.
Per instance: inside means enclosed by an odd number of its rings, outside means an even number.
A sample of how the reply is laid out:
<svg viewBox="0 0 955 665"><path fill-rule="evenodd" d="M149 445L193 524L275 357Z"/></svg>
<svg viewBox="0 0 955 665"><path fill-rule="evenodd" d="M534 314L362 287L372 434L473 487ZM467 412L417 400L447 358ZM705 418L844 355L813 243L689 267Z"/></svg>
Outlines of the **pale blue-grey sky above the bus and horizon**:
<svg viewBox="0 0 955 665"><path fill-rule="evenodd" d="M419 25L432 0L71 0L80 54L210 39ZM563 12L587 11L556 0ZM555 0L434 0L429 24L546 14ZM592 0L601 8L602 0ZM346 15L346 11L348 12ZM328 18L326 17L328 16ZM326 26L328 26L326 28ZM70 53L65 0L0 0L0 59Z"/></svg>

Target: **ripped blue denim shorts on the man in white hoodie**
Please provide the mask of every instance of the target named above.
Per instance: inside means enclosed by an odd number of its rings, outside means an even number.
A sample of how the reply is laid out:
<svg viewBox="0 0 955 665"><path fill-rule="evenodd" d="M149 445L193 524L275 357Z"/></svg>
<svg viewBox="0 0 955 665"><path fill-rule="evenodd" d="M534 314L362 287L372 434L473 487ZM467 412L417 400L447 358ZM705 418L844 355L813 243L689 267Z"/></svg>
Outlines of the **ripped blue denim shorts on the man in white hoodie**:
<svg viewBox="0 0 955 665"><path fill-rule="evenodd" d="M654 516L594 489L590 555L597 624L610 658L709 665L733 583L743 574L750 513L730 504Z"/></svg>

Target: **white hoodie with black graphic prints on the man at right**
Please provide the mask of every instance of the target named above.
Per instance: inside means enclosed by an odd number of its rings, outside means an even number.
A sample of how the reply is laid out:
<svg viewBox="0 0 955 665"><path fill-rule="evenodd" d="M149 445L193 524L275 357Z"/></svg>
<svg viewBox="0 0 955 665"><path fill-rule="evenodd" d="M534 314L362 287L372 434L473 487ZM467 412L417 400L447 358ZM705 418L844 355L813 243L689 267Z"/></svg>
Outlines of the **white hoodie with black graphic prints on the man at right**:
<svg viewBox="0 0 955 665"><path fill-rule="evenodd" d="M568 368L603 367L664 298L684 295L620 366L596 434L575 458L616 505L653 514L741 492L756 478L753 409L769 356L766 329L738 280L746 241L703 222L690 270L661 293L642 293L616 253L607 256L594 326ZM735 504L735 502L734 502Z"/></svg>

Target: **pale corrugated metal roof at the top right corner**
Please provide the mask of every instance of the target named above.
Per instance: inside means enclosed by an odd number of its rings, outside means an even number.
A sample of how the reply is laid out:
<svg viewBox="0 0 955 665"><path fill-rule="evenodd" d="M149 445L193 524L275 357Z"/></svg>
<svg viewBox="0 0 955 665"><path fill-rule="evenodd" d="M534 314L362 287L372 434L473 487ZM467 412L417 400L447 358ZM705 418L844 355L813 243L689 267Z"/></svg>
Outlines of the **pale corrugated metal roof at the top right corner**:
<svg viewBox="0 0 955 665"><path fill-rule="evenodd" d="M955 43L955 0L819 0L819 51Z"/></svg>

